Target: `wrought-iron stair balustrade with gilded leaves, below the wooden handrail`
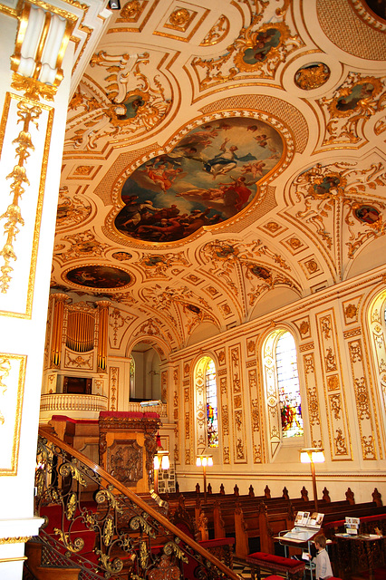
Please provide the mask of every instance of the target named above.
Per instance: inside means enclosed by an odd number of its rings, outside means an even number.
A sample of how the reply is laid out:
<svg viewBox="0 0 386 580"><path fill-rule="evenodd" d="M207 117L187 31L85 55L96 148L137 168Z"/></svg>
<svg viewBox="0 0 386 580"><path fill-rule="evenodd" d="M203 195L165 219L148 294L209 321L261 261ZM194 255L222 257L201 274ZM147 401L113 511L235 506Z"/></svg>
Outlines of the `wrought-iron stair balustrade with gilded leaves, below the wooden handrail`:
<svg viewBox="0 0 386 580"><path fill-rule="evenodd" d="M49 438L53 436L48 433L46 438L39 437L35 476L35 514L46 520L41 539L48 561L53 549L55 562L76 565L82 570L82 577L90 580L120 580L123 563L125 577L132 580L179 580L185 577L183 566L192 563L196 563L198 577L226 580L224 570L185 544L176 528L169 529L169 521L162 514L163 502L159 503L159 514L154 509L148 512L143 499L138 499L138 505L135 494L125 494L119 481L119 488L111 482L106 485L106 478L111 476L101 477L79 459L78 452L77 459L72 458L71 448L64 443L59 445L58 440L53 444ZM92 486L98 488L93 505L89 499L83 501L85 489ZM159 537L163 550L159 550ZM86 552L90 545L94 546L92 561ZM230 570L229 573L232 574ZM235 575L232 578L236 580Z"/></svg>

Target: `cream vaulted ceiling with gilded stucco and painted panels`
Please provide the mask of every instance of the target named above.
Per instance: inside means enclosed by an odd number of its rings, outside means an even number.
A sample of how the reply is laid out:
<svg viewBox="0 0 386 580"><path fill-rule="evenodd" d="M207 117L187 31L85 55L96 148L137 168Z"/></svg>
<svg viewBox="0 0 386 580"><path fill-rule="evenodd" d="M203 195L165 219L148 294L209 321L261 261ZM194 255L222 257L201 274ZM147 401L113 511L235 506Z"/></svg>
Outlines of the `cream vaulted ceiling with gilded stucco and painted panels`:
<svg viewBox="0 0 386 580"><path fill-rule="evenodd" d="M386 22L362 0L207 4L111 12L69 104L53 255L54 288L174 349L384 263Z"/></svg>

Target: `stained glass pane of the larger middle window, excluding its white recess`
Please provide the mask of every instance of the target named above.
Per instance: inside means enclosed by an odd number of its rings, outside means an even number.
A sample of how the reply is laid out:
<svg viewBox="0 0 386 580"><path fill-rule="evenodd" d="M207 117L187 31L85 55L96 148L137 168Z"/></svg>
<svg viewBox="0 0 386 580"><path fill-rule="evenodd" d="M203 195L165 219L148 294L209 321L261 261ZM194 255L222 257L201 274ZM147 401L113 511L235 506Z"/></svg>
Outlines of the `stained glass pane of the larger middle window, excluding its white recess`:
<svg viewBox="0 0 386 580"><path fill-rule="evenodd" d="M302 401L296 347L291 333L283 333L277 341L276 371L283 437L300 437L304 434Z"/></svg>

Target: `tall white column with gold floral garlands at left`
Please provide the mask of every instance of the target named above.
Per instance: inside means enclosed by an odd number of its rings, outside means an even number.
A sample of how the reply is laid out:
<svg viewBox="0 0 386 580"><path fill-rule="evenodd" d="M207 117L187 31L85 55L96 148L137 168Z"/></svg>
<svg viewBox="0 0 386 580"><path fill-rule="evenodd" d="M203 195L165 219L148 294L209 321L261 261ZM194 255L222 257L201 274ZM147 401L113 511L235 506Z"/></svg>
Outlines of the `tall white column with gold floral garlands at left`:
<svg viewBox="0 0 386 580"><path fill-rule="evenodd" d="M34 518L34 468L53 236L76 56L69 40L78 35L76 50L87 43L83 52L90 54L109 14L106 3L92 0L95 26L90 14L83 24L95 34L86 39L77 28L86 4L53 0L43 10L33 0L18 5L19 12L0 10L0 577L7 580L22 578L24 542L42 522Z"/></svg>

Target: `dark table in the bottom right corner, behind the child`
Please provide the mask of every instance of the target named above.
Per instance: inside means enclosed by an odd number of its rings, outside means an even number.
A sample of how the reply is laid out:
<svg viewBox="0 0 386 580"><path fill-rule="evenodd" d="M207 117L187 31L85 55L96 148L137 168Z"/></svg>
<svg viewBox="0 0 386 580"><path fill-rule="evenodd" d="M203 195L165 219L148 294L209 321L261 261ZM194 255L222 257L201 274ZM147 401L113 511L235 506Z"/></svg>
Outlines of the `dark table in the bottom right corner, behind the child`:
<svg viewBox="0 0 386 580"><path fill-rule="evenodd" d="M374 570L385 564L386 536L375 534L335 534L339 565L339 575L350 575L352 572L369 572L370 580Z"/></svg>

